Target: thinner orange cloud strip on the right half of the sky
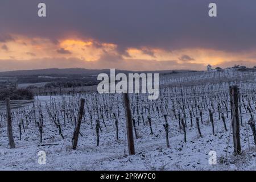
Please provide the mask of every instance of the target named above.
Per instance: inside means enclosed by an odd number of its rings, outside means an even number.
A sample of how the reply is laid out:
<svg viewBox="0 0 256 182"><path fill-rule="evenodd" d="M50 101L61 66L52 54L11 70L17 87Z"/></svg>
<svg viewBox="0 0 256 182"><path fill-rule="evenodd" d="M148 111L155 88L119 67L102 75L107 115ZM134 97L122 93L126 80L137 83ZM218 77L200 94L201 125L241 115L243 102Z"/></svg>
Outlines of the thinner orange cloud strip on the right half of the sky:
<svg viewBox="0 0 256 182"><path fill-rule="evenodd" d="M123 58L156 61L177 60L178 63L183 63L184 60L180 59L180 57L185 55L191 58L185 62L193 64L219 65L225 63L225 61L230 60L248 60L250 62L255 62L256 64L255 50L250 50L243 53L234 53L204 48L178 49L175 51L166 51L163 49L152 48L147 49L147 51L151 52L148 54L147 52L143 51L143 49L144 48L129 48L127 49L129 57L123 56Z"/></svg>

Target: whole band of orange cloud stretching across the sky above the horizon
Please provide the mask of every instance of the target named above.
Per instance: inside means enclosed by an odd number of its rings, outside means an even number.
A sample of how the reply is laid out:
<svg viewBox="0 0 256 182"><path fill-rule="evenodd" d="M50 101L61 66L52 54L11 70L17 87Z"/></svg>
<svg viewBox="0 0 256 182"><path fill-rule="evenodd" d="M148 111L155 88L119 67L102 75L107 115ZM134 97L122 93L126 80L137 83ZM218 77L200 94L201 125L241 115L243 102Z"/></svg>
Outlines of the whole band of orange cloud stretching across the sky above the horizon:
<svg viewBox="0 0 256 182"><path fill-rule="evenodd" d="M138 70L150 68L147 67L146 64L151 66L155 64L155 68L163 69L174 67L175 69L195 68L199 70L207 64L217 66L225 65L227 61L229 61L229 65L235 63L235 61L232 62L230 60L246 60L245 64L256 64L256 50L248 50L242 53L230 53L205 48L168 51L150 47L131 47L126 50L127 55L119 55L117 51L118 45L107 42L102 43L93 39L69 37L53 42L50 39L29 38L22 35L11 35L11 37L13 39L0 43L0 62L5 60L5 64L7 64L7 60L16 60L16 62L18 61L21 64L31 63L38 67L39 64L42 64L42 61L40 61L40 63L35 63L30 60L65 59L80 60L89 63L86 64L86 67L91 65L94 61L97 62L97 64L94 65L97 65L99 69L109 67L110 65L125 69L125 65L127 64L123 63L140 63L135 64L136 66L134 67L131 65L129 66L129 68ZM105 55L112 55L114 58ZM104 62L104 59L106 59L106 62ZM69 61L68 63L68 65L72 67L72 61ZM168 64L172 65L167 66ZM50 67L51 65L56 67L56 64L50 64L50 61L48 61L47 66ZM200 65L200 67L192 67L192 65ZM42 64L41 66L42 68L46 67L45 64ZM59 67L61 67L61 65Z"/></svg>

